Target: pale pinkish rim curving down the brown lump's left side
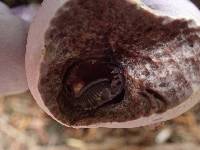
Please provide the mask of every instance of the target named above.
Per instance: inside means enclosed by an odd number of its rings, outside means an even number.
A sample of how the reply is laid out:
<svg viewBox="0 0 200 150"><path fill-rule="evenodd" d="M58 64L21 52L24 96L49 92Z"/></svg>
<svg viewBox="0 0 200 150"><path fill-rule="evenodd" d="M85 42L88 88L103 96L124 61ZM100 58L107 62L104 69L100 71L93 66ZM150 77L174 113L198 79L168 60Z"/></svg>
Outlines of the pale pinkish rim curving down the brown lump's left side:
<svg viewBox="0 0 200 150"><path fill-rule="evenodd" d="M51 18L55 15L56 11L66 2L66 0L45 0L42 7L36 14L35 19L31 23L28 33L27 46L26 46L26 76L28 87L38 103L38 105L52 118L57 120L52 113L45 106L40 92L38 90L39 70L42 59L42 49L44 49L44 35L49 27ZM63 124L64 125L64 124Z"/></svg>

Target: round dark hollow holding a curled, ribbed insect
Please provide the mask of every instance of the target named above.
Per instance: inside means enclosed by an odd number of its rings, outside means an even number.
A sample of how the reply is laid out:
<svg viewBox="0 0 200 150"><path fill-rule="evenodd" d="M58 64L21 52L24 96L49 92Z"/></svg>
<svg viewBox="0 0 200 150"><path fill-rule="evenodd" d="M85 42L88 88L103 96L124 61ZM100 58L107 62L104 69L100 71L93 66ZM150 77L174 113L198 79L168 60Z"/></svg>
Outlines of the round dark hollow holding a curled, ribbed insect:
<svg viewBox="0 0 200 150"><path fill-rule="evenodd" d="M75 65L65 79L66 93L70 93L66 98L74 107L85 111L115 103L124 88L120 73L120 68L107 62L89 60ZM93 76L89 78L88 74Z"/></svg>

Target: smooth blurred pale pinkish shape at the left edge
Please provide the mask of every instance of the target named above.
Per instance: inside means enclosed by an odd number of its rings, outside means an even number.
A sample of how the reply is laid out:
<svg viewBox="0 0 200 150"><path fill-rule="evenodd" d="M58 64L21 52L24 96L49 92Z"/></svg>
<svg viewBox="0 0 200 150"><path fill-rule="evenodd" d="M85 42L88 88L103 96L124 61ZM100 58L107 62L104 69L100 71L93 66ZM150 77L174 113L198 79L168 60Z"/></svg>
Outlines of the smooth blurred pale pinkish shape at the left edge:
<svg viewBox="0 0 200 150"><path fill-rule="evenodd" d="M25 45L28 24L0 2L0 96L25 92Z"/></svg>

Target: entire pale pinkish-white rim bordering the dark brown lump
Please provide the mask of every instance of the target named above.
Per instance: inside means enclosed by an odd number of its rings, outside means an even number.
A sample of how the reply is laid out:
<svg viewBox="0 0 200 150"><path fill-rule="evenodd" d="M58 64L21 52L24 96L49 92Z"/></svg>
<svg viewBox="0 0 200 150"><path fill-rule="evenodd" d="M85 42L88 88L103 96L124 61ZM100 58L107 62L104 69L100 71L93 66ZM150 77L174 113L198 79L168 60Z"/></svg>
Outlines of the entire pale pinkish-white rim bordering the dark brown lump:
<svg viewBox="0 0 200 150"><path fill-rule="evenodd" d="M68 0L45 0L40 8L35 20L31 24L28 44L26 51L26 74L28 79L28 85L33 94L35 100L39 106L52 118L59 123L64 124L62 121L57 119L44 104L41 93L38 89L38 83L40 80L40 69L42 59L44 57L45 49L45 33L50 26L52 18L55 17L56 12L63 6ZM175 19L192 20L193 23L189 25L197 27L200 24L200 12L199 10L188 0L128 0L132 3L138 3L143 9L152 13L155 16L165 16L166 22L171 22ZM177 5L178 3L178 5ZM185 7L184 7L185 6ZM187 9L187 11L185 11ZM97 128L97 127L108 127L108 128L132 128L150 125L161 121L175 118L185 111L189 110L195 104L199 102L200 97L200 86L194 88L194 92L190 97L179 104L178 106L169 109L163 113L152 114L148 117L141 117L135 120L125 122L107 122L107 123L95 123L87 126L73 126L74 128Z"/></svg>

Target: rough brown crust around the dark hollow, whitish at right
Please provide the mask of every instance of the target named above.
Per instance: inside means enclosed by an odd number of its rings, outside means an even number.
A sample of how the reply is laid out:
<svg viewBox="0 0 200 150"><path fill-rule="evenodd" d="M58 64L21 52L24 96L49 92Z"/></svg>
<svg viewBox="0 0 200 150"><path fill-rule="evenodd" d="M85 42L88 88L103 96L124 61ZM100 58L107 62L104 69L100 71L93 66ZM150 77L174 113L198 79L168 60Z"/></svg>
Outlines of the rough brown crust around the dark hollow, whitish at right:
<svg viewBox="0 0 200 150"><path fill-rule="evenodd" d="M183 20L163 25L164 18L137 8L120 0L74 0L57 13L46 34L39 82L44 103L57 119L73 125L122 122L163 112L191 95L200 75L195 57L199 47L195 45L199 40L197 29L188 29L188 22ZM184 54L185 48L194 53L187 59L185 55L178 57L177 52ZM71 63L69 58L96 54L105 57L111 53L125 70L124 100L82 114L78 120L70 118L75 113L70 106L66 108L69 114L62 114L58 102L65 101L60 91L64 70ZM186 67L182 60L189 60L194 69Z"/></svg>

